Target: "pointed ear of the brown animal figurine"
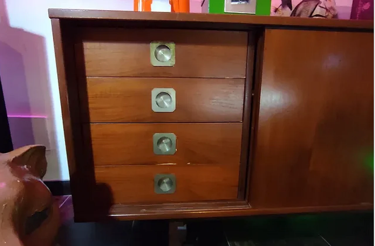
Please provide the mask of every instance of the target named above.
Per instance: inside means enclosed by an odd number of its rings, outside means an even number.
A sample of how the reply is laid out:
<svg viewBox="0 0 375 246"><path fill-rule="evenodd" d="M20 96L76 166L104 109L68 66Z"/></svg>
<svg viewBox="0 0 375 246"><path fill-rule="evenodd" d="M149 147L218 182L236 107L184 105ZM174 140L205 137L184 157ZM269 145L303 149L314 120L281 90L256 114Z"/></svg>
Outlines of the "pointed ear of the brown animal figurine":
<svg viewBox="0 0 375 246"><path fill-rule="evenodd" d="M28 145L9 152L11 162L18 166L26 166L31 174L42 178L47 170L46 147Z"/></svg>

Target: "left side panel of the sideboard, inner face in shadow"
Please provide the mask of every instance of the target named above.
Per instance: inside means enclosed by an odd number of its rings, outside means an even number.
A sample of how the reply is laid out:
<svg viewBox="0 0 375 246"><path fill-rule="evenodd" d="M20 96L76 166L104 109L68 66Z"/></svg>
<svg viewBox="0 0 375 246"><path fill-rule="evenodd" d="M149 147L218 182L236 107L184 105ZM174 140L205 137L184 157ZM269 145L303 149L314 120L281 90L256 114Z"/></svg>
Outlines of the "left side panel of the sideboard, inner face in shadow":
<svg viewBox="0 0 375 246"><path fill-rule="evenodd" d="M82 214L87 209L86 202L92 201L87 190L95 185L91 155L82 148L82 112L77 85L83 69L76 67L76 27L59 19L52 19L51 23L74 213Z"/></svg>

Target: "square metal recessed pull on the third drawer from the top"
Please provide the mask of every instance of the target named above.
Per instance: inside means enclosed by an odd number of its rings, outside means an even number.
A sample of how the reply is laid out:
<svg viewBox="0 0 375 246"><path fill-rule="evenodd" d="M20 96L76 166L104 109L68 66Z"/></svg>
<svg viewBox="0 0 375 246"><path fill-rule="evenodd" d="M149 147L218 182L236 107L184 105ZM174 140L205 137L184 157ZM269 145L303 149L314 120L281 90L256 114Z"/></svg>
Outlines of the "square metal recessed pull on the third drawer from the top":
<svg viewBox="0 0 375 246"><path fill-rule="evenodd" d="M154 154L171 155L176 153L176 135L173 133L154 133Z"/></svg>

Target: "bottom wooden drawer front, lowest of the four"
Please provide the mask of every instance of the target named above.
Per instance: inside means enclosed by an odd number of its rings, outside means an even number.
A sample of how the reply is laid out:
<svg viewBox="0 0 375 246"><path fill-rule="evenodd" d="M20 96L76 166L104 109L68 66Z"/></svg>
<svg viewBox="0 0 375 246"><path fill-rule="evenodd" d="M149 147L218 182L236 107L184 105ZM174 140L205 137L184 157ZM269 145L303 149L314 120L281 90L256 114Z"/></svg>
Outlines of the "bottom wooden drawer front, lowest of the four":
<svg viewBox="0 0 375 246"><path fill-rule="evenodd" d="M155 192L156 180L166 174L174 179L172 193ZM97 166L96 183L111 189L114 203L169 203L237 198L238 166L143 165Z"/></svg>

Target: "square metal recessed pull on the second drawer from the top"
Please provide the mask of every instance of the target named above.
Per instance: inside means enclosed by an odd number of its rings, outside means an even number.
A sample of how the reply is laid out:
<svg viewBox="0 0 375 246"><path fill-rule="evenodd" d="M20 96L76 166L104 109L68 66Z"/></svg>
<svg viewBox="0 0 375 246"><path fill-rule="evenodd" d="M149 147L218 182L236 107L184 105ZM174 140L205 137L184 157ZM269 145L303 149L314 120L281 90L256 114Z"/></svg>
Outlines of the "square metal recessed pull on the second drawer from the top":
<svg viewBox="0 0 375 246"><path fill-rule="evenodd" d="M154 88L151 91L154 112L173 112L176 109L176 91L173 88Z"/></svg>

